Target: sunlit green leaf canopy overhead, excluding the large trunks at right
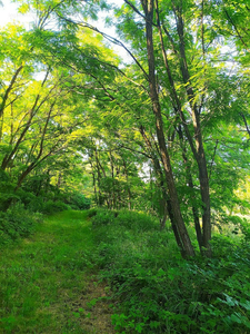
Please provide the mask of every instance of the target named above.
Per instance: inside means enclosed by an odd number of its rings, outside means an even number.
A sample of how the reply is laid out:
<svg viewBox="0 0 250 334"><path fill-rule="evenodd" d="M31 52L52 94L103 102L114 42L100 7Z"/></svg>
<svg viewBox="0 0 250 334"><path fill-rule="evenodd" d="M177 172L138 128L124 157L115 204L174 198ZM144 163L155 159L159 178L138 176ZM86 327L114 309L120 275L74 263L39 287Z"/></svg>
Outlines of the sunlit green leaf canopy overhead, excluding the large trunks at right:
<svg viewBox="0 0 250 334"><path fill-rule="evenodd" d="M133 194L136 185L141 185L138 176L143 174L142 169L149 174L150 158L159 158L141 1L123 3L116 9L114 16L110 14L119 39L134 60L127 65L121 65L106 42L107 36L99 33L101 28L89 23L90 19L98 18L100 10L109 8L106 1L18 2L20 11L31 10L38 16L36 28L30 31L10 26L9 31L0 36L3 45L0 61L4 69L0 73L2 99L17 69L23 65L6 99L1 157L9 153L7 148L18 143L21 129L28 127L14 156L20 163L17 170L34 161L41 147L40 158L51 149L54 155L66 149L64 154L72 159L72 151L78 150L86 159L86 169L96 178L97 193L99 189L103 193L106 203L114 193L118 197L119 191L128 199L129 190ZM159 0L160 27L157 27L156 8L152 20L156 88L166 146L173 164L183 215L189 222L192 220L192 206L200 213L203 210L198 195L199 168L190 148L191 144L196 147L194 137L202 134L217 209L229 197L223 183L233 180L229 186L232 193L248 169L249 56L244 46L248 43L246 23L242 22L248 22L249 13L244 1L238 7L232 0L216 2ZM114 42L119 45L118 40ZM231 47L232 53L223 48L226 45ZM42 85L47 69L49 76ZM182 141L178 135L180 128ZM142 129L153 148L147 148ZM240 154L233 156L233 150ZM21 156L30 158L21 159ZM128 163L128 173L121 166L123 160ZM240 161L239 174L237 160ZM117 174L116 168L120 173ZM134 170L133 175L129 174L129 168ZM194 188L187 186L188 169ZM220 176L221 181L217 183ZM159 191L154 177L152 171L151 194ZM154 196L154 204L158 197L162 196ZM154 207L157 205L160 202Z"/></svg>

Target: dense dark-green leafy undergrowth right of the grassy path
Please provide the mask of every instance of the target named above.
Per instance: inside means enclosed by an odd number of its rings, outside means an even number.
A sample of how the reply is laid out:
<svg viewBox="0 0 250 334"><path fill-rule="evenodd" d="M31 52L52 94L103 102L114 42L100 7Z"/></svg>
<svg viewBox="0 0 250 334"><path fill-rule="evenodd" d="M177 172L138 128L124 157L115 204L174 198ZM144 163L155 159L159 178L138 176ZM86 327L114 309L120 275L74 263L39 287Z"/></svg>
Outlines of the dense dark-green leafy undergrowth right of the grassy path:
<svg viewBox="0 0 250 334"><path fill-rule="evenodd" d="M248 238L218 234L213 258L187 262L171 228L161 232L152 217L103 209L89 216L101 279L120 301L118 333L250 333Z"/></svg>

